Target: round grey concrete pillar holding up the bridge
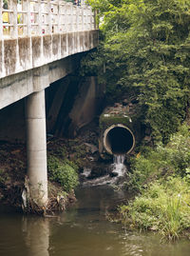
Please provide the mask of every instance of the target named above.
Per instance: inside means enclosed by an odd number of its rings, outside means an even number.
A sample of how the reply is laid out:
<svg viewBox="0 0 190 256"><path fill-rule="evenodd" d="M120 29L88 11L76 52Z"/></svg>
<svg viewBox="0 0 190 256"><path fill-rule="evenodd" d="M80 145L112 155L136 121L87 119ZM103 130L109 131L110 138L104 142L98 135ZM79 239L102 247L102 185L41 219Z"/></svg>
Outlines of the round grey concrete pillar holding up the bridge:
<svg viewBox="0 0 190 256"><path fill-rule="evenodd" d="M26 103L29 196L39 207L47 204L47 131L45 90Z"/></svg>

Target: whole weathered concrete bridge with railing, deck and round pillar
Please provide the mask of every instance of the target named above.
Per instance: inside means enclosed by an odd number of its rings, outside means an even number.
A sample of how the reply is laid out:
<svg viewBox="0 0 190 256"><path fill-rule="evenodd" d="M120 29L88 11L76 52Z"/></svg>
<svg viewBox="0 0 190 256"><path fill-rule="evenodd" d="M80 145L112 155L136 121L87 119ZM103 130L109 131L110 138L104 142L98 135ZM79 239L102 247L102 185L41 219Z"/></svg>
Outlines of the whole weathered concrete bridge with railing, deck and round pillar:
<svg viewBox="0 0 190 256"><path fill-rule="evenodd" d="M19 4L18 4L19 2ZM6 8L6 9L5 9ZM0 0L0 109L26 98L29 193L47 204L45 89L98 45L95 13L82 1Z"/></svg>

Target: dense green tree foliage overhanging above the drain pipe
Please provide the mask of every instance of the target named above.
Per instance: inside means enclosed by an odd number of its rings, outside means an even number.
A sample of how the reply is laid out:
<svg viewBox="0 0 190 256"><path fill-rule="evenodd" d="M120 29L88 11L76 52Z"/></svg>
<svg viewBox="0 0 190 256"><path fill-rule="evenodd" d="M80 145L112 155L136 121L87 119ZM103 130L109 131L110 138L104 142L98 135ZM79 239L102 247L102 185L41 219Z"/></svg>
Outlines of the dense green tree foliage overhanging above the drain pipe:
<svg viewBox="0 0 190 256"><path fill-rule="evenodd" d="M132 93L156 140L167 142L189 115L190 1L88 0L101 41L83 69L106 84L108 100Z"/></svg>

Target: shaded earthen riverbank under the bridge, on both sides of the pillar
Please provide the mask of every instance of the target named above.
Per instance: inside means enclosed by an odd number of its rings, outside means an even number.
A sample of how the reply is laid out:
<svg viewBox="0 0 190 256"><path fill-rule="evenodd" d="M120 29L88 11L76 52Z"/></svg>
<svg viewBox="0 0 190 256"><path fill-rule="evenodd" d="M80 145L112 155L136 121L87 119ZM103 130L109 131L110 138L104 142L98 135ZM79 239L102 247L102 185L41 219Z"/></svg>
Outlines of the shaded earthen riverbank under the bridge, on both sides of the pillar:
<svg viewBox="0 0 190 256"><path fill-rule="evenodd" d="M99 163L99 165L97 165ZM88 179L108 172L98 152L96 122L83 128L74 139L47 134L48 211L64 210L76 201L78 175L90 168ZM22 143L0 142L0 202L22 208L27 175L27 147ZM80 176L83 180L83 175Z"/></svg>

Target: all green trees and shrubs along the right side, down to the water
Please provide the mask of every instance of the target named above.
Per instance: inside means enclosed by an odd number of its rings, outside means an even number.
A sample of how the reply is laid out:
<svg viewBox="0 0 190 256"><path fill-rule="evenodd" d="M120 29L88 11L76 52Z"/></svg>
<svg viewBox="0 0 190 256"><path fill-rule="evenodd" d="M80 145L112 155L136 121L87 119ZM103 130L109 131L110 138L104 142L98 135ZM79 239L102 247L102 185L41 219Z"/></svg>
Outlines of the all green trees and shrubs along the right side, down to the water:
<svg viewBox="0 0 190 256"><path fill-rule="evenodd" d="M190 227L190 1L87 2L99 10L100 47L82 73L106 85L108 104L138 100L154 146L131 160L127 187L140 195L120 208L123 223L178 238Z"/></svg>

